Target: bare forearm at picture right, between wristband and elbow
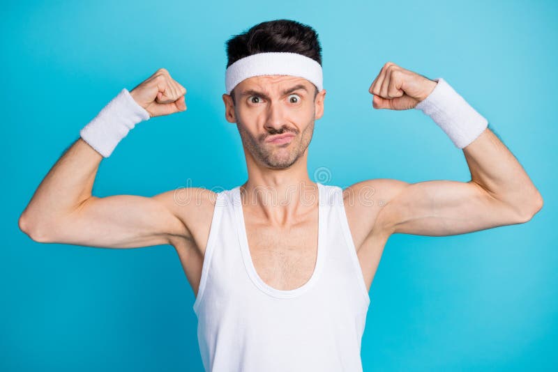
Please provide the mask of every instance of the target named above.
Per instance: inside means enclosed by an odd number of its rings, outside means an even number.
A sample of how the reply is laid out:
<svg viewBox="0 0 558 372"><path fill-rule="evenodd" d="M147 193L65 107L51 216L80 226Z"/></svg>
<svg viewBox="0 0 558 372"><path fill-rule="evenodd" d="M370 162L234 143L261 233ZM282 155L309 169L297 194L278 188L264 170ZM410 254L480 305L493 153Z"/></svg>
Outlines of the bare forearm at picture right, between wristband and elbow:
<svg viewBox="0 0 558 372"><path fill-rule="evenodd" d="M463 148L471 181L491 196L511 206L518 214L531 217L543 206L543 198L518 160L487 128Z"/></svg>

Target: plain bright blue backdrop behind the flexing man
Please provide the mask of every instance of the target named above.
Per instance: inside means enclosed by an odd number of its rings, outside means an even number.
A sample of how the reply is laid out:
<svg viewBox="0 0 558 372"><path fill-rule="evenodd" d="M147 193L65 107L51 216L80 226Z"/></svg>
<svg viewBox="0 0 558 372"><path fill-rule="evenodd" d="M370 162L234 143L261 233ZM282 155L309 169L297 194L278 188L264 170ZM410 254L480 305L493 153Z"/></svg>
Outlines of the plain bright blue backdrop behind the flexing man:
<svg viewBox="0 0 558 372"><path fill-rule="evenodd" d="M527 224L448 237L393 235L370 290L365 371L557 369L558 7L552 1L11 2L1 10L0 370L202 371L174 249L33 242L17 219L79 130L158 68L188 110L137 125L93 194L153 196L246 180L225 121L225 40L266 20L313 26L324 117L309 171L469 180L461 150L420 111L372 108L387 61L444 77L518 157L545 206Z"/></svg>

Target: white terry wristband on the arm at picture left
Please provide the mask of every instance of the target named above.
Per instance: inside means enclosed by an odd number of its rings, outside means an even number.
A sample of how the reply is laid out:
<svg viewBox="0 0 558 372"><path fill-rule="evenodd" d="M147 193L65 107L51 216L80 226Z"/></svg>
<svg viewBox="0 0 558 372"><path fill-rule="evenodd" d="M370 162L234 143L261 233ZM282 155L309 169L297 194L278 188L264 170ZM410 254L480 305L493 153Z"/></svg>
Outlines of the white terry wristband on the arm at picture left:
<svg viewBox="0 0 558 372"><path fill-rule="evenodd" d="M89 124L80 130L80 137L103 157L109 157L116 145L140 121L151 116L123 88Z"/></svg>

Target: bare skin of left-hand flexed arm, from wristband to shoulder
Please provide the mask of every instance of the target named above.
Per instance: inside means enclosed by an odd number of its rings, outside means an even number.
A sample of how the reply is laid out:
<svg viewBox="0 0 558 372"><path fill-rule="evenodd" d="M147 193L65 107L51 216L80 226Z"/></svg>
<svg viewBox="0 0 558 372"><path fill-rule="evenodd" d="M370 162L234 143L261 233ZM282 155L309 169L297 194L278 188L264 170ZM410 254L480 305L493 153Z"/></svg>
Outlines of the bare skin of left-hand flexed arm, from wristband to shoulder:
<svg viewBox="0 0 558 372"><path fill-rule="evenodd" d="M103 157L77 139L40 183L20 217L38 242L128 248L169 244L188 231L172 214L172 195L91 195Z"/></svg>

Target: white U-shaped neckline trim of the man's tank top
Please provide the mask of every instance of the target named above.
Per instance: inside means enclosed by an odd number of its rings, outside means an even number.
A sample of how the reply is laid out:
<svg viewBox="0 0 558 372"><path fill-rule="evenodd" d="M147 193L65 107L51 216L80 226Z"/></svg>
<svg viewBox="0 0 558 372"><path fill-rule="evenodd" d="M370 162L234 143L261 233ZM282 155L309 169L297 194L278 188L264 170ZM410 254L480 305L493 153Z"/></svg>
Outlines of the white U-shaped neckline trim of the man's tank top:
<svg viewBox="0 0 558 372"><path fill-rule="evenodd" d="M244 222L244 213L242 208L242 199L240 197L240 186L234 187L233 191L233 198L234 198L234 211L236 213L236 229L238 232L239 243L243 258L244 267L246 268L246 272L248 272L248 276L252 280L252 282L262 290L267 295L276 298L293 298L302 295L307 290L314 286L315 282L319 278L319 274L322 271L322 265L324 262L324 255L325 255L325 247L326 244L324 242L324 192L325 187L321 183L317 183L318 185L318 242L317 242L317 257L315 262L315 268L310 276L310 279L306 281L305 284L299 286L298 288L289 289L289 290L280 290L277 288L273 288L266 284L265 281L259 277L257 271L255 269L254 263L252 261L252 256L250 255L250 248L248 246L248 235L246 234L246 223Z"/></svg>

